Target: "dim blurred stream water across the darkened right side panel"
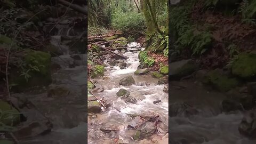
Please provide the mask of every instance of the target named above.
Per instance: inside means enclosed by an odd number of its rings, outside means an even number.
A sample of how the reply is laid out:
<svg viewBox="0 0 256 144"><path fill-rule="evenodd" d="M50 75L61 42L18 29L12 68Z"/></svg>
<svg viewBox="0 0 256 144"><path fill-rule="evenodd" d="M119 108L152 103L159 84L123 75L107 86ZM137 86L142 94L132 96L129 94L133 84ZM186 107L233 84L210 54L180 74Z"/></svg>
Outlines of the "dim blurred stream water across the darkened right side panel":
<svg viewBox="0 0 256 144"><path fill-rule="evenodd" d="M194 82L174 82L169 84L170 110L173 114L177 103L186 102L197 108L196 115L178 115L169 117L169 143L209 143L209 144L252 144L238 132L238 124L243 117L242 112L221 113L220 103L225 95L207 91ZM178 90L175 86L185 89ZM193 111L192 111L193 113ZM191 114L191 113L190 113Z"/></svg>

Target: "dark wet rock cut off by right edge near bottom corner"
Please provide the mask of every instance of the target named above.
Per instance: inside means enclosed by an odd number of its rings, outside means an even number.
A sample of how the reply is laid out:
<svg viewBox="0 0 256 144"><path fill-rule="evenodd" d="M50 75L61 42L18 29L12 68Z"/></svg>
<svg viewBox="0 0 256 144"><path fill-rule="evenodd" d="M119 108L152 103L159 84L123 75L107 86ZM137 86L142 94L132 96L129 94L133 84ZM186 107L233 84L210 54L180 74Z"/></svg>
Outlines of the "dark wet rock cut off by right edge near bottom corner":
<svg viewBox="0 0 256 144"><path fill-rule="evenodd" d="M239 124L238 131L240 134L249 138L256 138L256 112L251 110L247 112L242 122Z"/></svg>

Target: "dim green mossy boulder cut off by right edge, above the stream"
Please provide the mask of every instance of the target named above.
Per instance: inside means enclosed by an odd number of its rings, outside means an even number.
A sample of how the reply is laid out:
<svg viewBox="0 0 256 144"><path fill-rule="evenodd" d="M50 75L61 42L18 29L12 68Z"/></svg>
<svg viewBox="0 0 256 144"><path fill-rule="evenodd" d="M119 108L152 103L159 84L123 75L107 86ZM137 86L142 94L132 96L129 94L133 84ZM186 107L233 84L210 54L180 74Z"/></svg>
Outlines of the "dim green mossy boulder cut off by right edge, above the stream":
<svg viewBox="0 0 256 144"><path fill-rule="evenodd" d="M256 54L240 54L231 66L232 74L249 79L256 76Z"/></svg>

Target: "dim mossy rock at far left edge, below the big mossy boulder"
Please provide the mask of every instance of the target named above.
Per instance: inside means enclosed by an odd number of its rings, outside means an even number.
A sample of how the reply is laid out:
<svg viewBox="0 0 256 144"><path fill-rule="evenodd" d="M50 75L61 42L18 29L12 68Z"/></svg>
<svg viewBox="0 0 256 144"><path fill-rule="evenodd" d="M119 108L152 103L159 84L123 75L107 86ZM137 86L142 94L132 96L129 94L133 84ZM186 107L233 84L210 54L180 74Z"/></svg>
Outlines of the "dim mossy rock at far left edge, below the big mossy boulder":
<svg viewBox="0 0 256 144"><path fill-rule="evenodd" d="M1 118L0 122L15 126L20 123L20 112L13 108L9 103L0 100Z"/></svg>

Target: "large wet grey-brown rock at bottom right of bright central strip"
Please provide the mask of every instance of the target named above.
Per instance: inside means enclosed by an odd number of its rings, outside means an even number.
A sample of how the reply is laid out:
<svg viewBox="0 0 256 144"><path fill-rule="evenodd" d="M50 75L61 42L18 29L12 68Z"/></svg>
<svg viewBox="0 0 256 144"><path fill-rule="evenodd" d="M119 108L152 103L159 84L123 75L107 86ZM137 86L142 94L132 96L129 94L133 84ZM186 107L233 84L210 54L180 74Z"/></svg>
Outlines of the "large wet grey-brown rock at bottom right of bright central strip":
<svg viewBox="0 0 256 144"><path fill-rule="evenodd" d="M133 139L134 140L142 140L147 139L151 135L153 135L156 132L156 127L154 123L146 122L138 127L136 130Z"/></svg>

